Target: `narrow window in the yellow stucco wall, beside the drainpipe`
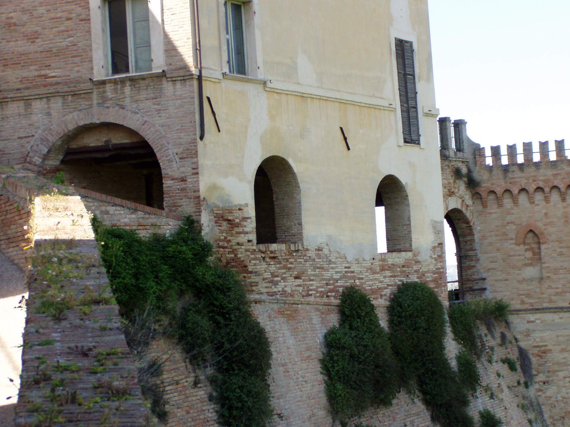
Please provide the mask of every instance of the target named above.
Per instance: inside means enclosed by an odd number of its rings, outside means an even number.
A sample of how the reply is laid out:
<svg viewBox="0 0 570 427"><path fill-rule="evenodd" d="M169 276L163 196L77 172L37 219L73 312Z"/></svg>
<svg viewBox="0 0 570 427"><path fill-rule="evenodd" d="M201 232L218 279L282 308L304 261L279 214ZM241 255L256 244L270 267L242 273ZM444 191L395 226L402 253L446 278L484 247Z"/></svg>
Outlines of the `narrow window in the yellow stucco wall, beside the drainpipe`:
<svg viewBox="0 0 570 427"><path fill-rule="evenodd" d="M230 73L246 74L245 20L243 5L225 2L227 63Z"/></svg>

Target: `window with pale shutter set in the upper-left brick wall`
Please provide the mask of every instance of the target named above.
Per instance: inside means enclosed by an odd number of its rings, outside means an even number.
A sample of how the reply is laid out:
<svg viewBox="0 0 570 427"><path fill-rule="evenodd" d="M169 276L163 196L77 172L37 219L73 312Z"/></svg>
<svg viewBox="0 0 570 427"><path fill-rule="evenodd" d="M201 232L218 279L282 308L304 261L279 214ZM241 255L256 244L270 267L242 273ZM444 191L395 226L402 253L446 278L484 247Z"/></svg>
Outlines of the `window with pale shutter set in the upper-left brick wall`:
<svg viewBox="0 0 570 427"><path fill-rule="evenodd" d="M111 72L152 71L147 0L108 0Z"/></svg>

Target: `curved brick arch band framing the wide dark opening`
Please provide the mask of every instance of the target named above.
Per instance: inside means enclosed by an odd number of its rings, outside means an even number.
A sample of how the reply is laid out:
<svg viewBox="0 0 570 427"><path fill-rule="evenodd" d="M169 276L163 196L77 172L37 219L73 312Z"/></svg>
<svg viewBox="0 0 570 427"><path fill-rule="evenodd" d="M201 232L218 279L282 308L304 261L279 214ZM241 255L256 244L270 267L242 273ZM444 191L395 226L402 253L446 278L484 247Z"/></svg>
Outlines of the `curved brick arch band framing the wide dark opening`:
<svg viewBox="0 0 570 427"><path fill-rule="evenodd" d="M163 175L178 172L178 159L162 129L142 113L119 107L90 107L60 118L32 140L26 155L26 169L40 172L59 164L72 139L102 123L115 123L135 130L154 150Z"/></svg>

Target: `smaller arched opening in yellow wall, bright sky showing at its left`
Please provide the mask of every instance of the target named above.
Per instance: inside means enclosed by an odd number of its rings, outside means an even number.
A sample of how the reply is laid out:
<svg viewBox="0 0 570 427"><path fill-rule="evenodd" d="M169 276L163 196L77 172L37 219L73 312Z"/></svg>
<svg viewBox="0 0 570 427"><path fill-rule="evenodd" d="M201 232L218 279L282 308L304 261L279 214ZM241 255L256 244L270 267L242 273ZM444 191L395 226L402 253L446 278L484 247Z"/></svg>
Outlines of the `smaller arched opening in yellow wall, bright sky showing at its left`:
<svg viewBox="0 0 570 427"><path fill-rule="evenodd" d="M376 189L378 253L412 251L412 221L408 192L394 175L386 175Z"/></svg>

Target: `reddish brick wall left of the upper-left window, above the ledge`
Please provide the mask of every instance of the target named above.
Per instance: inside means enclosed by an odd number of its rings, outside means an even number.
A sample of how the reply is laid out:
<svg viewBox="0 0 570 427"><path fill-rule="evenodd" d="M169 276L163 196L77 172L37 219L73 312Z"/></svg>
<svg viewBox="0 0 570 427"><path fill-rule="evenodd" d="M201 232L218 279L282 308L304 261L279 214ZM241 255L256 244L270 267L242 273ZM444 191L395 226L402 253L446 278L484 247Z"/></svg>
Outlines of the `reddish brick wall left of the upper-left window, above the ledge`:
<svg viewBox="0 0 570 427"><path fill-rule="evenodd" d="M87 0L5 0L0 11L0 97L89 88Z"/></svg>

